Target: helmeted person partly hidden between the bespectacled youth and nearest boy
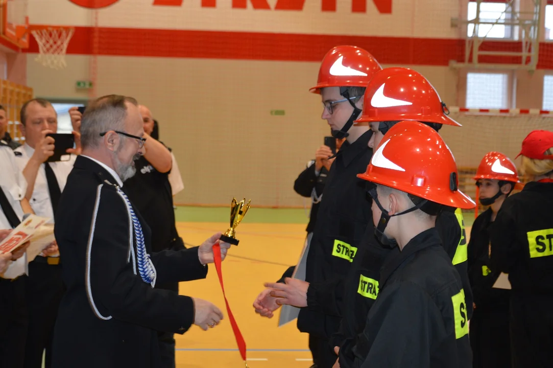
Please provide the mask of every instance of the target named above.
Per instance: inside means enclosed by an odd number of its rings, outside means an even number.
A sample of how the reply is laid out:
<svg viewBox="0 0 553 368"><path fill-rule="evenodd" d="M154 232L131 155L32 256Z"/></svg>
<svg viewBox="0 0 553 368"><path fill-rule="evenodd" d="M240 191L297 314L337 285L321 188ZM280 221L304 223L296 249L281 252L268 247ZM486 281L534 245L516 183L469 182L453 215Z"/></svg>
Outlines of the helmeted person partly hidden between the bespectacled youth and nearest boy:
<svg viewBox="0 0 553 368"><path fill-rule="evenodd" d="M384 134L399 119L420 121L435 131L439 131L442 124L461 126L446 115L445 103L424 76L407 68L386 68L376 72L369 82L362 116L354 125L371 126L373 136L369 147L375 150ZM465 297L471 303L468 310L470 316L472 294L467 274L465 224L461 210L454 211L455 209L441 211L436 220L436 229L453 265L461 274ZM370 245L373 232L368 229L366 236ZM362 259L354 260L346 282L348 312L343 314L340 332L332 340L339 352L336 366L349 368L353 365L353 348L357 344L357 336L363 331L368 311L378 296L380 268L385 257L394 252L398 252L398 249L390 248L390 245L373 245Z"/></svg>

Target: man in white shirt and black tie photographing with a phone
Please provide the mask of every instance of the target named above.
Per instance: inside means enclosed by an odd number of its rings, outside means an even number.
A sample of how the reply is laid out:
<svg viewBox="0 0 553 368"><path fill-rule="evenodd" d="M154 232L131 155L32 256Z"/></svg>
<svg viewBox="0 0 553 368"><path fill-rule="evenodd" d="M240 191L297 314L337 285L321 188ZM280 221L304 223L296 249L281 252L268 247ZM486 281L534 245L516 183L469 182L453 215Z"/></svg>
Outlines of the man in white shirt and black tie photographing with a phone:
<svg viewBox="0 0 553 368"><path fill-rule="evenodd" d="M25 102L21 108L20 121L19 127L25 137L25 144L14 152L19 171L27 179L25 198L29 200L36 215L50 217L49 222L53 224L55 207L76 156L68 154L67 160L46 162L53 156L55 147L54 138L46 137L46 134L58 131L58 115L50 102L43 99ZM75 141L79 144L78 134ZM74 149L68 151L76 153ZM62 293L58 246L53 243L29 262L29 329L25 368L40 368L45 349L45 367L50 367L51 341Z"/></svg>

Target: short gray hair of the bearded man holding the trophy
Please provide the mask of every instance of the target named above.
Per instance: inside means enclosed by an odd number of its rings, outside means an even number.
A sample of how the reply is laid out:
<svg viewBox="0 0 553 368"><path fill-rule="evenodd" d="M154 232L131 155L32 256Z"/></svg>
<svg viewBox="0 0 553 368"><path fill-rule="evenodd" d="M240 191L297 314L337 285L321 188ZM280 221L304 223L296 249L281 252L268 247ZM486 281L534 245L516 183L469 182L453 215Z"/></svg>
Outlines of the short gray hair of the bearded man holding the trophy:
<svg viewBox="0 0 553 368"><path fill-rule="evenodd" d="M124 131L127 102L138 106L137 100L133 97L121 95L102 96L86 106L81 121L82 148L98 147L101 133Z"/></svg>

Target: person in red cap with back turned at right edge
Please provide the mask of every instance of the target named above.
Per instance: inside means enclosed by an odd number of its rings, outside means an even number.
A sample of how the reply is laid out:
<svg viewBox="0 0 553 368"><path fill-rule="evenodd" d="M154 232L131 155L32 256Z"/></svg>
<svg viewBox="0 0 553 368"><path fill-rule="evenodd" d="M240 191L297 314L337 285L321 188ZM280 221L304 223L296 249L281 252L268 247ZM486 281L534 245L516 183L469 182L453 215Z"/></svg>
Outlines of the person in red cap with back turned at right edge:
<svg viewBox="0 0 553 368"><path fill-rule="evenodd" d="M490 234L491 269L509 274L512 367L552 367L553 132L528 134L519 156L530 182L497 212Z"/></svg>

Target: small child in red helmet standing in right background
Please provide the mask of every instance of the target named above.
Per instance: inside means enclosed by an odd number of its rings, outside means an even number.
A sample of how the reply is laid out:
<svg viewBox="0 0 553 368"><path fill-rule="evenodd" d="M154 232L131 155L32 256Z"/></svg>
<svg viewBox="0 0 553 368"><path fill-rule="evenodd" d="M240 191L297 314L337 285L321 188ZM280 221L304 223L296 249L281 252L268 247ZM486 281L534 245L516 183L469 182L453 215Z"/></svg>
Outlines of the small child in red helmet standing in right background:
<svg viewBox="0 0 553 368"><path fill-rule="evenodd" d="M489 231L503 201L521 184L515 164L504 154L489 152L482 159L476 175L479 200L489 208L482 212L471 229L468 242L468 275L474 297L469 339L473 368L509 368L510 290L494 287L501 272L492 269Z"/></svg>

